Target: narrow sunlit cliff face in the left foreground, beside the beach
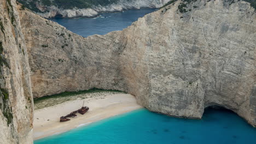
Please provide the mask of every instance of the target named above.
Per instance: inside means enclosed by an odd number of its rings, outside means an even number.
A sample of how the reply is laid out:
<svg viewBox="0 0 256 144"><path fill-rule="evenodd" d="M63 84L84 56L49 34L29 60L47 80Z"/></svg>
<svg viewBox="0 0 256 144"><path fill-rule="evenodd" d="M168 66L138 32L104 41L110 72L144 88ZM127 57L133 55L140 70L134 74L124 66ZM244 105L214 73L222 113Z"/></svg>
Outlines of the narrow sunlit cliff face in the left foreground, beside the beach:
<svg viewBox="0 0 256 144"><path fill-rule="evenodd" d="M0 143L33 143L33 102L15 1L0 0Z"/></svg>

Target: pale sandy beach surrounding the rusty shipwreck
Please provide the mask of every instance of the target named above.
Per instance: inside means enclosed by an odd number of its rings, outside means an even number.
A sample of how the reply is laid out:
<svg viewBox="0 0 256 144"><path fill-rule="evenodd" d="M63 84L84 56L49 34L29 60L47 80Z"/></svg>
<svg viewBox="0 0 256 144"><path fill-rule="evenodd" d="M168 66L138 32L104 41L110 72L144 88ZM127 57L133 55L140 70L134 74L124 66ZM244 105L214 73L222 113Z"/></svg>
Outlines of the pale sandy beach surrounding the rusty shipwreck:
<svg viewBox="0 0 256 144"><path fill-rule="evenodd" d="M80 109L83 101L85 101L85 106L90 108L88 112L84 115L78 113L77 117L70 118L71 121L60 123L61 116L66 116L70 112ZM133 95L124 93L106 94L104 98L95 97L66 101L34 111L33 138L38 140L46 136L60 134L82 125L140 108L142 107L136 103Z"/></svg>

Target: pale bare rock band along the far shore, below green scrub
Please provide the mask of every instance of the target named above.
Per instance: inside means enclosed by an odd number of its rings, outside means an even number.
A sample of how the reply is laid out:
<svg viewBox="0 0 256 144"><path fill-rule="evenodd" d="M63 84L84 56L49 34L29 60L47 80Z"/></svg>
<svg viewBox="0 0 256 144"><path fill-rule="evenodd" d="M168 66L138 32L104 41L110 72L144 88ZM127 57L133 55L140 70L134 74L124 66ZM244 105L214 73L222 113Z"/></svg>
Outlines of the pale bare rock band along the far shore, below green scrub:
<svg viewBox="0 0 256 144"><path fill-rule="evenodd" d="M20 1L21 3L26 3L25 5L31 7L36 7L38 11L34 11L40 16L45 18L50 17L95 17L99 13L112 13L115 11L123 11L127 9L141 9L141 8L160 8L162 5L166 4L170 0L119 0L115 3L109 3L107 5L92 5L90 8L62 8L60 5L44 5L40 1ZM33 9L32 9L33 10Z"/></svg>

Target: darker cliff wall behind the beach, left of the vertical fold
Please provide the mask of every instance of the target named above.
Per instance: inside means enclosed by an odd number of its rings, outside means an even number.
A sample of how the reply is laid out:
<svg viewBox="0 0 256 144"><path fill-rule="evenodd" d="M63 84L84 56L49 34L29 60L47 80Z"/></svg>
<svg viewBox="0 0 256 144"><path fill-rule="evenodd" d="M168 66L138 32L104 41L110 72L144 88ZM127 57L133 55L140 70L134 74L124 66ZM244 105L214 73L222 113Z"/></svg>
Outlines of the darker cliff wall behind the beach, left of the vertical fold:
<svg viewBox="0 0 256 144"><path fill-rule="evenodd" d="M21 15L34 97L93 87L127 91L115 41L121 32L84 39L29 11Z"/></svg>

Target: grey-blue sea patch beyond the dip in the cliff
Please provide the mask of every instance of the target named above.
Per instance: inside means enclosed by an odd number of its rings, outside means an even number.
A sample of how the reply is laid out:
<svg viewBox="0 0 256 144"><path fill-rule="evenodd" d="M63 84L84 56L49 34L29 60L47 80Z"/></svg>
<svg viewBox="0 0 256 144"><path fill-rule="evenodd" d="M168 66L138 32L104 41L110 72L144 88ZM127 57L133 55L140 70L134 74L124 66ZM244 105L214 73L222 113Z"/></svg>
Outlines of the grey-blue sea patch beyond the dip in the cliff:
<svg viewBox="0 0 256 144"><path fill-rule="evenodd" d="M66 27L69 31L88 37L93 34L107 34L112 31L121 31L137 21L139 17L152 13L156 9L126 10L123 13L102 13L96 18L65 19L57 17L50 19Z"/></svg>

